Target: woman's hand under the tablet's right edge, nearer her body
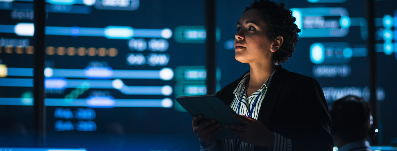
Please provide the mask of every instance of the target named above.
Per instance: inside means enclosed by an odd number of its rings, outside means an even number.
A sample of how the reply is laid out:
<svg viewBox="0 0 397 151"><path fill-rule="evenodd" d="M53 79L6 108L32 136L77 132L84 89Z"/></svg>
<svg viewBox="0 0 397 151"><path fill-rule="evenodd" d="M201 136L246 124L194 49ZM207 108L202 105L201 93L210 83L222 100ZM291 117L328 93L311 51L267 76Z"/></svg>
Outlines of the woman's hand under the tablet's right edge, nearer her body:
<svg viewBox="0 0 397 151"><path fill-rule="evenodd" d="M251 117L233 114L235 119L245 123L245 125L228 124L225 127L232 129L233 134L240 137L241 141L273 148L274 133L264 126L260 121Z"/></svg>

